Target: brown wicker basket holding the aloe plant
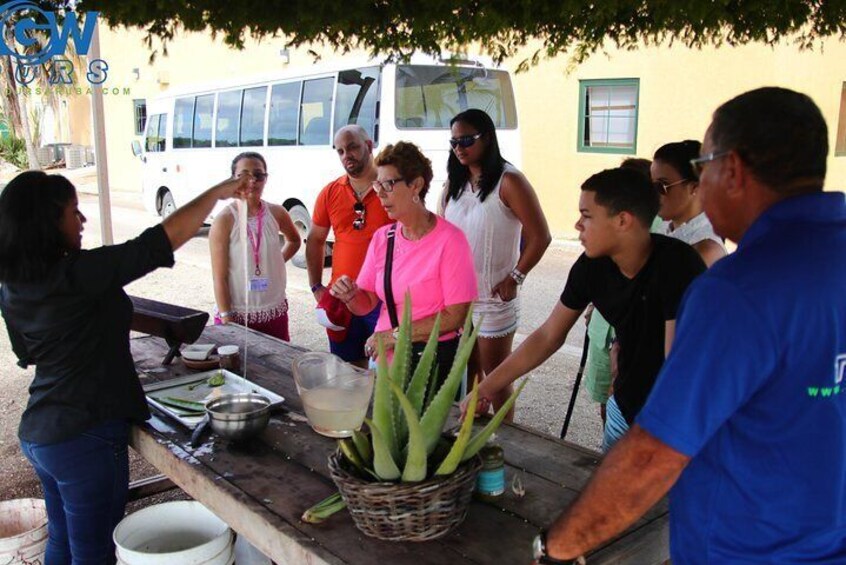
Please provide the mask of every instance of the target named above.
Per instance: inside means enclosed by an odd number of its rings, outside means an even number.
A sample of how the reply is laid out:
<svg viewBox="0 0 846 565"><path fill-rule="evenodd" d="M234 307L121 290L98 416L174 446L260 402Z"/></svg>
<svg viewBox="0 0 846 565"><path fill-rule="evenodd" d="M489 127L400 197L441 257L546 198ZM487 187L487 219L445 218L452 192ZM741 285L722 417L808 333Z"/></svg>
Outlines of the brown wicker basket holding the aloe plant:
<svg viewBox="0 0 846 565"><path fill-rule="evenodd" d="M368 536L388 541L427 541L447 534L467 515L481 461L419 483L368 482L351 473L338 452L329 472L353 521Z"/></svg>

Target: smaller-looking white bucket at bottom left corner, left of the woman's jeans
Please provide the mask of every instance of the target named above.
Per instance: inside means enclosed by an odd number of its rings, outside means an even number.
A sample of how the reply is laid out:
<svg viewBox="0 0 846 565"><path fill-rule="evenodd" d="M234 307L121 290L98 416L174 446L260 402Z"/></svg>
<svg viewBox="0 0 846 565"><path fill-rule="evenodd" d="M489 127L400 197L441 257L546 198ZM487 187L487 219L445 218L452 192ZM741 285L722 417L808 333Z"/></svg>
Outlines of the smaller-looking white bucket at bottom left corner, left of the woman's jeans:
<svg viewBox="0 0 846 565"><path fill-rule="evenodd" d="M0 502L0 564L44 563L47 506L40 498Z"/></svg>

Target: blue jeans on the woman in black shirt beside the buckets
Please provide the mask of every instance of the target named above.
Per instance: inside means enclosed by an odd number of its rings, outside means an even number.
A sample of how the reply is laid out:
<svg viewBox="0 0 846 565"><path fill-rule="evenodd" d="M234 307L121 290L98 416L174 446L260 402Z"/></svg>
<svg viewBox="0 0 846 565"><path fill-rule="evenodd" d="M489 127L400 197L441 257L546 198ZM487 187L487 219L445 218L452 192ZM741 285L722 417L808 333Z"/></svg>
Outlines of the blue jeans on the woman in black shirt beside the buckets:
<svg viewBox="0 0 846 565"><path fill-rule="evenodd" d="M129 490L129 425L110 421L60 443L21 440L47 503L46 565L115 562L112 532Z"/></svg>

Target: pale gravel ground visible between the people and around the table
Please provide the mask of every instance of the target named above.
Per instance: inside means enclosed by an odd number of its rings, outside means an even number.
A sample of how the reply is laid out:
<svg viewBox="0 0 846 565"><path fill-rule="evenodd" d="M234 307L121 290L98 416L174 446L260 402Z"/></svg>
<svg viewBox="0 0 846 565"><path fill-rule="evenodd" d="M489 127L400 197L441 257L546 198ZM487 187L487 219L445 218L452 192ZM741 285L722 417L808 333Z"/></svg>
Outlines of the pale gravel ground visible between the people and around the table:
<svg viewBox="0 0 846 565"><path fill-rule="evenodd" d="M93 172L82 171L72 180L81 191L90 190ZM68 175L71 176L70 174ZM112 194L112 222L114 240L124 241L153 225L157 219L141 209L137 194ZM80 195L80 206L88 216L84 246L100 244L99 213L96 196ZM541 263L527 278L522 290L522 317L515 345L522 342L538 327L550 312L563 287L570 265L581 252L572 242L555 242ZM327 272L328 277L328 272ZM207 230L201 232L177 253L173 269L160 269L127 287L130 294L190 308L211 311L213 304L211 270L208 262ZM313 321L314 301L308 290L305 271L288 266L288 299L290 303L291 335L298 344L310 349L326 348L323 329ZM565 344L547 363L531 374L529 384L521 396L516 421L540 432L558 435L567 401L572 391L584 338L584 325L577 325ZM28 462L21 454L17 440L17 425L27 400L27 387L33 370L23 371L15 365L14 355L0 321L0 500L40 497L40 486ZM601 424L595 405L584 391L579 394L573 422L567 439L591 449L601 445ZM156 470L131 453L132 479L156 474ZM147 505L176 494L153 497L141 503ZM184 495L181 495L184 496ZM137 509L138 505L130 510Z"/></svg>

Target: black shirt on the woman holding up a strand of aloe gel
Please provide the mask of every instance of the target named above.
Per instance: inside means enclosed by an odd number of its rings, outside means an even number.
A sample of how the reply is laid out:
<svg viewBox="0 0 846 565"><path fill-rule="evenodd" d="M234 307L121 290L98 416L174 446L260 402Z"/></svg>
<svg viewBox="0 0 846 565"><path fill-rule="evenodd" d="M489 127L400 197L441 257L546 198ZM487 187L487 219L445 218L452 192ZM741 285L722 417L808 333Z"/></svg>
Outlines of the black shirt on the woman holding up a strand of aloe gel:
<svg viewBox="0 0 846 565"><path fill-rule="evenodd" d="M107 420L149 417L129 350L132 302L123 286L172 265L159 225L120 245L70 254L43 282L0 287L18 364L35 365L21 439L57 443Z"/></svg>

